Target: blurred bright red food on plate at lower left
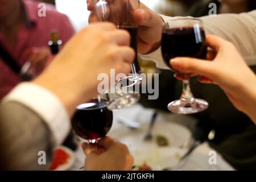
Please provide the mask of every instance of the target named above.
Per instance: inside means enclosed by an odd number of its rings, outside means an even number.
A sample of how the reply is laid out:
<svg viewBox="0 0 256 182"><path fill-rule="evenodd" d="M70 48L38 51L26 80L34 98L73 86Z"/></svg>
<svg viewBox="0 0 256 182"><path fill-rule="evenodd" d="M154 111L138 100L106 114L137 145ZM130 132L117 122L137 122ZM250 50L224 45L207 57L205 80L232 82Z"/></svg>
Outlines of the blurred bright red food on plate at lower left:
<svg viewBox="0 0 256 182"><path fill-rule="evenodd" d="M53 162L49 170L53 171L59 166L67 164L70 157L71 156L65 150L63 150L63 148L58 148L57 150L55 150L55 153L53 155Z"/></svg>

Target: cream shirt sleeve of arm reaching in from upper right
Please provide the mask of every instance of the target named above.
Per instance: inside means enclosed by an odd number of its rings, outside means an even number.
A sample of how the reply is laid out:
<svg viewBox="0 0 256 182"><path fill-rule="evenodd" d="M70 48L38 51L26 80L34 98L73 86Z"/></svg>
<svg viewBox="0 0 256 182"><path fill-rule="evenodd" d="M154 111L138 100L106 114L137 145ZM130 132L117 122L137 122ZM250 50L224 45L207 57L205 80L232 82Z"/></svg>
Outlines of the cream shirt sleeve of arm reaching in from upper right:
<svg viewBox="0 0 256 182"><path fill-rule="evenodd" d="M162 16L164 22L181 17ZM206 34L213 34L232 42L248 65L256 65L256 10L241 14L220 14L200 18ZM168 69L162 58L161 49L147 55L139 54L144 60L152 60L156 67Z"/></svg>

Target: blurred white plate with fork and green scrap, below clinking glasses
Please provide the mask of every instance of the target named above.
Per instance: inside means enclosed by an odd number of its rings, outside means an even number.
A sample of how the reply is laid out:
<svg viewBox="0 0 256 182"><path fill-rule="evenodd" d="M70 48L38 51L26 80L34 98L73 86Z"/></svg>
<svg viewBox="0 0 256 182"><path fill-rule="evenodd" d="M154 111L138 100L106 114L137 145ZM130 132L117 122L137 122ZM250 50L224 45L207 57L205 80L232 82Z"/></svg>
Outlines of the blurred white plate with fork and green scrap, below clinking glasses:
<svg viewBox="0 0 256 182"><path fill-rule="evenodd" d="M147 128L148 123L142 123L142 127L137 130L131 130L123 126L110 131L108 135L129 147L136 165L146 162L152 169L161 170L164 167L176 164L179 159L177 155L181 156L185 152L179 147L187 143L191 137L188 129L173 122L156 121L152 130L153 136L163 135L169 142L169 146L159 147L155 138L149 142L143 140Z"/></svg>

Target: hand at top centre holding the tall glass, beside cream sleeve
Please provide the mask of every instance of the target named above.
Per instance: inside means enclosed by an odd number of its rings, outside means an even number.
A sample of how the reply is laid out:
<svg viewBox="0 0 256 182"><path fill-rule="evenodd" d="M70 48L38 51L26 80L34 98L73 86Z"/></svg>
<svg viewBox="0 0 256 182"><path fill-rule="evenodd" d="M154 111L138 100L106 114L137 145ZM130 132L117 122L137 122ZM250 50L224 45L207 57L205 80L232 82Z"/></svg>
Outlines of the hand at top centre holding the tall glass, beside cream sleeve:
<svg viewBox="0 0 256 182"><path fill-rule="evenodd" d="M97 22L93 0L87 0L87 8L91 11L89 23ZM139 26L138 52L146 54L160 47L163 19L143 3L140 3L139 8L134 11L134 20Z"/></svg>

